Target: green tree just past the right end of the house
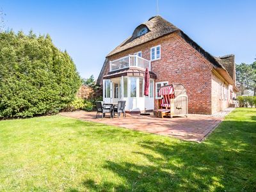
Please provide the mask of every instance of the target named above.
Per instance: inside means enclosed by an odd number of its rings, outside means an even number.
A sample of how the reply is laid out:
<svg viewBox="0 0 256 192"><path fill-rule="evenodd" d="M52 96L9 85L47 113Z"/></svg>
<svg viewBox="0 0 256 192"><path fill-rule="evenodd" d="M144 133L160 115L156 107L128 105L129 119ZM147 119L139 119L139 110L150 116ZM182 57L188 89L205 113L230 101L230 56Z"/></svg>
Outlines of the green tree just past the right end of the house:
<svg viewBox="0 0 256 192"><path fill-rule="evenodd" d="M241 63L236 65L236 81L240 85L241 95L244 94L244 90L252 89L253 86L253 70L252 65Z"/></svg>

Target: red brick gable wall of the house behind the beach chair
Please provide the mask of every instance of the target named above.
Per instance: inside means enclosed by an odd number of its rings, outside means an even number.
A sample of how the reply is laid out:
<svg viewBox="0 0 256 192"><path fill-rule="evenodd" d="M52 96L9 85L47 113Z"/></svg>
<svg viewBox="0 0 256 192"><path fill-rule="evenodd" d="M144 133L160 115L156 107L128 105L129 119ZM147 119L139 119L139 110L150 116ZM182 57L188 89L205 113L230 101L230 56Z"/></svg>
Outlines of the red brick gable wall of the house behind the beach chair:
<svg viewBox="0 0 256 192"><path fill-rule="evenodd" d="M156 45L161 45L161 60L151 63L152 72L157 75L155 82L168 81L169 84L184 84L188 93L188 112L211 114L212 65L179 35L164 36L110 56L109 60L115 60L138 51L142 52L143 58L150 60L150 47ZM109 71L109 67L106 68L104 75Z"/></svg>

